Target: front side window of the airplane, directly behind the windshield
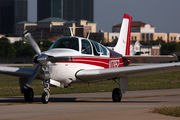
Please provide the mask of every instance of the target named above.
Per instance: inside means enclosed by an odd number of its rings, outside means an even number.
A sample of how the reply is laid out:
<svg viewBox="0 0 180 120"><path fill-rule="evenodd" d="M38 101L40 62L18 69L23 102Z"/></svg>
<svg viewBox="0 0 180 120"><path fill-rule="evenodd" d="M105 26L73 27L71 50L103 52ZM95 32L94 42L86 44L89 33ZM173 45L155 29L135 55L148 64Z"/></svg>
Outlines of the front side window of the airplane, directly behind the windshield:
<svg viewBox="0 0 180 120"><path fill-rule="evenodd" d="M88 40L81 40L81 53L82 54L92 54L91 44Z"/></svg>

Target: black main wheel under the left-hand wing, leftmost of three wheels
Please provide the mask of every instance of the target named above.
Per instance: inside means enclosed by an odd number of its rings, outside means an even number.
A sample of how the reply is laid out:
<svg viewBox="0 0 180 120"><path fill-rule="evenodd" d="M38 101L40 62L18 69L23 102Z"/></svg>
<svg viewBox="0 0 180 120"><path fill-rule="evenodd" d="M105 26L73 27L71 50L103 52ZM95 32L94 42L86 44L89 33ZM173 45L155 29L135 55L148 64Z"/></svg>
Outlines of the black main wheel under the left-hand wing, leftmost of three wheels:
<svg viewBox="0 0 180 120"><path fill-rule="evenodd" d="M26 102L32 102L34 99L34 92L32 88L24 89L24 99Z"/></svg>

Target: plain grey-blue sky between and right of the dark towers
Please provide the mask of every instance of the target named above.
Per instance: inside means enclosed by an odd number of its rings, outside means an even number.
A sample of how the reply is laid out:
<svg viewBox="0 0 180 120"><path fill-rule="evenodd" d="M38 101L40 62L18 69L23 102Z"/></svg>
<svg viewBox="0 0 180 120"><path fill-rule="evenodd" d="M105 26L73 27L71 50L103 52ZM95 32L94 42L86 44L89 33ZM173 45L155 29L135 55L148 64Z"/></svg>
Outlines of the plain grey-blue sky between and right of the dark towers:
<svg viewBox="0 0 180 120"><path fill-rule="evenodd" d="M36 0L28 0L28 20L37 21ZM180 0L94 0L94 22L97 31L111 32L122 22L124 13L132 21L153 25L155 32L180 33Z"/></svg>

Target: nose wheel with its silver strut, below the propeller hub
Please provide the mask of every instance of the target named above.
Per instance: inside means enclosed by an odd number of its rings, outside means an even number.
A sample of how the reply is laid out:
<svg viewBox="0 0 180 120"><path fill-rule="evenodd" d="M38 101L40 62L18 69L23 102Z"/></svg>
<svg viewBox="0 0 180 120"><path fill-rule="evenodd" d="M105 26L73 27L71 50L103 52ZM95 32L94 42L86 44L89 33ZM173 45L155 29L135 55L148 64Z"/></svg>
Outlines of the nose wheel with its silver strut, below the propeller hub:
<svg viewBox="0 0 180 120"><path fill-rule="evenodd" d="M44 93L42 94L41 100L43 104L47 104L49 102L50 89L49 89L49 80L44 81Z"/></svg>

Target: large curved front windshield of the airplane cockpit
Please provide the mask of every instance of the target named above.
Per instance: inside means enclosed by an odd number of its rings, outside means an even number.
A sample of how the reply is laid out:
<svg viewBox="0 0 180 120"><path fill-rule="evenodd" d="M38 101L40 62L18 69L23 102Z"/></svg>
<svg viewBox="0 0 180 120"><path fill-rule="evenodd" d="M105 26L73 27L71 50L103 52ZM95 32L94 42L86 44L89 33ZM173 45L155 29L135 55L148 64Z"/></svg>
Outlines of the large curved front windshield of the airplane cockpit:
<svg viewBox="0 0 180 120"><path fill-rule="evenodd" d="M79 51L79 41L75 37L62 37L57 39L49 49L53 48L69 48Z"/></svg>

